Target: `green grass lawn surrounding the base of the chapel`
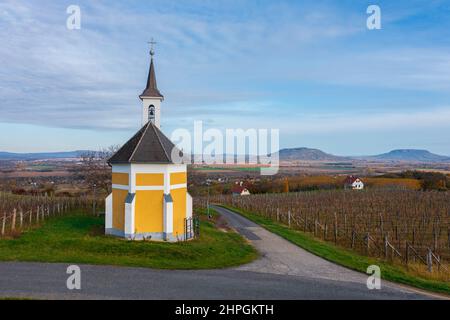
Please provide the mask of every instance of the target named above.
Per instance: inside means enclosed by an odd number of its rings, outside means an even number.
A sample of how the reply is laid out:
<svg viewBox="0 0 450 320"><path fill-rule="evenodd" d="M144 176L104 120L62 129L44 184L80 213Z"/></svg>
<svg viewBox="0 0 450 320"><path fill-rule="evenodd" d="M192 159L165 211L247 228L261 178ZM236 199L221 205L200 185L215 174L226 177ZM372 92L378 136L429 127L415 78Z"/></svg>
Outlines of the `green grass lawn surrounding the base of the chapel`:
<svg viewBox="0 0 450 320"><path fill-rule="evenodd" d="M52 218L15 239L0 240L0 261L105 264L158 269L237 266L258 254L239 234L202 217L200 237L188 242L127 241L103 235L103 218L73 214Z"/></svg>

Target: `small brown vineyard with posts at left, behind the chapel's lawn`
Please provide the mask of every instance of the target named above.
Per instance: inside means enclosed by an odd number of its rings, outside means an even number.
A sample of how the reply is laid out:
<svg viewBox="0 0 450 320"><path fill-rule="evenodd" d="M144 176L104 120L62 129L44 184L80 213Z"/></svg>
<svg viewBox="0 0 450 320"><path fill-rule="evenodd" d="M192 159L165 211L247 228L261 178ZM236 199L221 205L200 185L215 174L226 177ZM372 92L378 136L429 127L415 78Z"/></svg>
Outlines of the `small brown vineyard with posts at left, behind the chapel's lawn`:
<svg viewBox="0 0 450 320"><path fill-rule="evenodd" d="M20 196L0 192L0 237L14 236L49 217L91 208L87 198Z"/></svg>

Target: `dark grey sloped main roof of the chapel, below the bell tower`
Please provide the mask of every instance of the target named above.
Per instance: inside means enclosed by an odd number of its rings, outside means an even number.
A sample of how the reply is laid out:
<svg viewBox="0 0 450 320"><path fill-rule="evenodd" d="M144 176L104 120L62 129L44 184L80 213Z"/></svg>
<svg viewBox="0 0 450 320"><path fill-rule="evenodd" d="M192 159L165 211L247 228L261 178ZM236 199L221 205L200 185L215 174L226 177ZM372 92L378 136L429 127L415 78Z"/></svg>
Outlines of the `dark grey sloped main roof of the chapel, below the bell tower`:
<svg viewBox="0 0 450 320"><path fill-rule="evenodd" d="M171 156L174 148L183 156L172 141L149 121L108 160L108 163L174 163Z"/></svg>

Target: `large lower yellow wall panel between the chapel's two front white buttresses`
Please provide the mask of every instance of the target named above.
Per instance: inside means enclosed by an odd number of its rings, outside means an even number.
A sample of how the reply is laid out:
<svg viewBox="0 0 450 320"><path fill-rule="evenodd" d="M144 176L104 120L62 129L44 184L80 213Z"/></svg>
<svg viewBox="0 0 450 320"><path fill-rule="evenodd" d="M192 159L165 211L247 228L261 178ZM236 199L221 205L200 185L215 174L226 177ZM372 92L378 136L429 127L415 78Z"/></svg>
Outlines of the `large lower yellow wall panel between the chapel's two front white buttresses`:
<svg viewBox="0 0 450 320"><path fill-rule="evenodd" d="M135 230L142 232L163 232L164 191L136 191Z"/></svg>

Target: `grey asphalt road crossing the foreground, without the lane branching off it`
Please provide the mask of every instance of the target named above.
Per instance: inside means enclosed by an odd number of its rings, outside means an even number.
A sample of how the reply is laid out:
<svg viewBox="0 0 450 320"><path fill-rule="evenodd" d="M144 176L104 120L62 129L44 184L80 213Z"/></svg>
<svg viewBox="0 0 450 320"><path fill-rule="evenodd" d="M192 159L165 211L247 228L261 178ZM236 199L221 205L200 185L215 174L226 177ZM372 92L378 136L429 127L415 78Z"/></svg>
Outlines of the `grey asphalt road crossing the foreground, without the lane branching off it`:
<svg viewBox="0 0 450 320"><path fill-rule="evenodd" d="M67 264L0 263L0 296L39 299L420 299L355 282L243 270L166 271L80 265L81 290L66 287Z"/></svg>

